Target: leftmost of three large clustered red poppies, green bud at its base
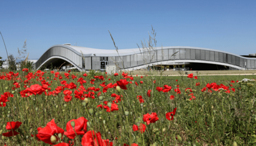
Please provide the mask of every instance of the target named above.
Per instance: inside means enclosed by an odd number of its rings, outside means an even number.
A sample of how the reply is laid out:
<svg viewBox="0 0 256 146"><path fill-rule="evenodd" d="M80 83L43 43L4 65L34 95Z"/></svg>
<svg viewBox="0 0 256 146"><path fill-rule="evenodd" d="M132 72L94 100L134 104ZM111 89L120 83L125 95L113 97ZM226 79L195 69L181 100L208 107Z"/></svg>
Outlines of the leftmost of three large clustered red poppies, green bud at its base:
<svg viewBox="0 0 256 146"><path fill-rule="evenodd" d="M56 140L58 141L59 140L59 137L57 137L58 134L63 135L64 130L58 127L55 124L54 119L52 119L51 122L47 123L46 127L38 131L38 134L36 135L36 137L41 141L45 142L46 144L54 145L51 142L51 136L53 135L54 137L56 137Z"/></svg>

